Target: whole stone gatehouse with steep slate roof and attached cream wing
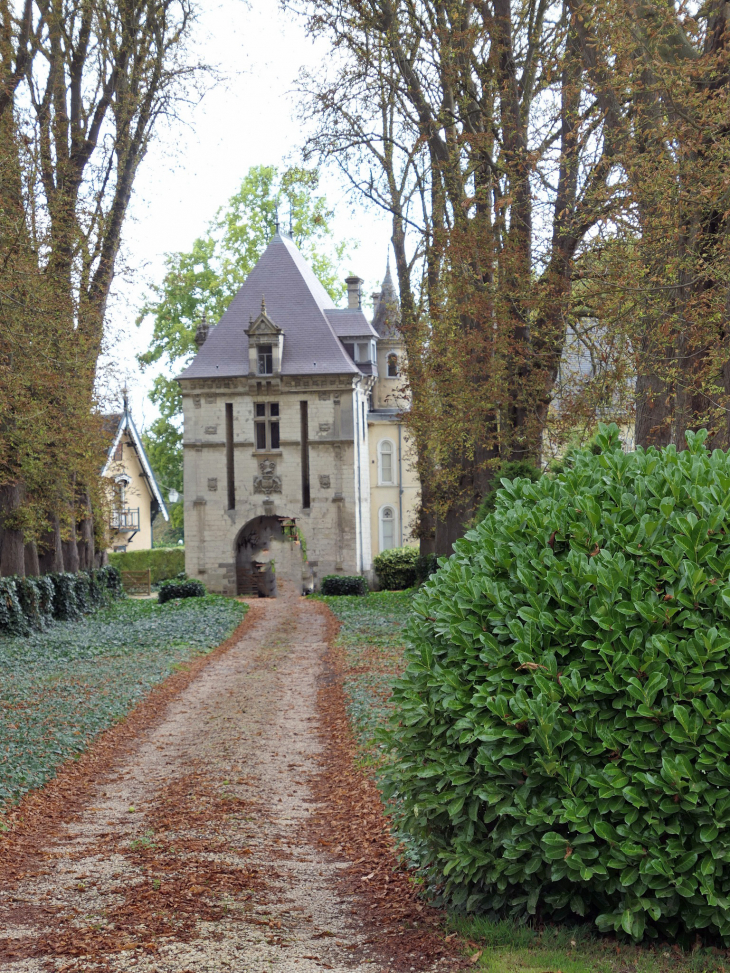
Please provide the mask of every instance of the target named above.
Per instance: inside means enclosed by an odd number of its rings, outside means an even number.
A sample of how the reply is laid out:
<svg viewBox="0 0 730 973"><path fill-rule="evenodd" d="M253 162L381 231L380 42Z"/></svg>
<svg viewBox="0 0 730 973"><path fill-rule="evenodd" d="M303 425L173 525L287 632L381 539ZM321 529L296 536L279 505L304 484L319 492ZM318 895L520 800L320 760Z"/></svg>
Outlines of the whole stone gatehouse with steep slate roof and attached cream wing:
<svg viewBox="0 0 730 973"><path fill-rule="evenodd" d="M349 277L348 307L336 308L277 233L220 322L198 329L179 377L185 563L211 591L369 575L384 544L408 542L417 490L395 399L395 290L388 273L377 330L361 284Z"/></svg>

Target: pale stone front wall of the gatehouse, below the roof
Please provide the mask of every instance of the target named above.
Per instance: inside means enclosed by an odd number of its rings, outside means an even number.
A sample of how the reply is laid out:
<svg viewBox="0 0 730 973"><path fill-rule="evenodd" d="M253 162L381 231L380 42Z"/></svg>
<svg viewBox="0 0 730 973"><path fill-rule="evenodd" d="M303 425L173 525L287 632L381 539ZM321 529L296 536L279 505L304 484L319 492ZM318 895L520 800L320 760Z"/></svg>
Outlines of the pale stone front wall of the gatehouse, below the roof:
<svg viewBox="0 0 730 973"><path fill-rule="evenodd" d="M354 380L357 382L357 379ZM185 569L209 590L236 593L236 548L253 518L296 520L311 576L370 568L367 429L356 441L362 396L347 376L182 380ZM268 388L267 388L268 386ZM300 402L308 403L311 504L302 507ZM278 402L280 448L254 448L254 403ZM233 405L235 508L228 509L226 403ZM361 468L358 494L355 460ZM262 469L262 464L269 464ZM271 465L273 464L273 466ZM360 506L358 506L360 501ZM365 543L358 550L358 522ZM306 573L306 572L305 572ZM302 579L303 581L305 579Z"/></svg>

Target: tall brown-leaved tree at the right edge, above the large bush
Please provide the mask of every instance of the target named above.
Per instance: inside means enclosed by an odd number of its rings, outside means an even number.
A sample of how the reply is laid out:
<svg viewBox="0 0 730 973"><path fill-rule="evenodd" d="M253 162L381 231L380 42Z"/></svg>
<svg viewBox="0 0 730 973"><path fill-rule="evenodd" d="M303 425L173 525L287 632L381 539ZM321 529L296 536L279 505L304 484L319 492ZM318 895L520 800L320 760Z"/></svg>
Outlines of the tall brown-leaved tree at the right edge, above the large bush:
<svg viewBox="0 0 730 973"><path fill-rule="evenodd" d="M602 313L637 359L636 440L730 446L728 6L570 0L632 209ZM618 259L616 259L618 258Z"/></svg>

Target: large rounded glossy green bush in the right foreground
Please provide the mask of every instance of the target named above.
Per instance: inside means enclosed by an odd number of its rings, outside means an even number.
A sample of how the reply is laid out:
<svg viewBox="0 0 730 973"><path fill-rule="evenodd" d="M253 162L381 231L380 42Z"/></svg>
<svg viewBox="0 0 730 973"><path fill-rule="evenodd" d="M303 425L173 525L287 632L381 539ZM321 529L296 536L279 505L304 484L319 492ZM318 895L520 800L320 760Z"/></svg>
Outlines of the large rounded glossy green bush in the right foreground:
<svg viewBox="0 0 730 973"><path fill-rule="evenodd" d="M386 796L457 905L730 942L730 456L617 432L420 589Z"/></svg>

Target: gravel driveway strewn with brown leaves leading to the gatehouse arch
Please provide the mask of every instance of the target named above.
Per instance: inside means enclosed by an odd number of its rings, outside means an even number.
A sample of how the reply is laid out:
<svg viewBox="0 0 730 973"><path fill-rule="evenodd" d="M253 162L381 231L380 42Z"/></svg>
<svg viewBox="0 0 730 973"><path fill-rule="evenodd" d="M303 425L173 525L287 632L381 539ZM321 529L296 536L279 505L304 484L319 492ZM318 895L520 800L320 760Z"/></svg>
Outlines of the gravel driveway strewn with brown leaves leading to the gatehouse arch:
<svg viewBox="0 0 730 973"><path fill-rule="evenodd" d="M403 969L351 864L306 839L318 810L322 606L255 601L209 660L0 888L0 970ZM444 969L413 955L405 969Z"/></svg>

